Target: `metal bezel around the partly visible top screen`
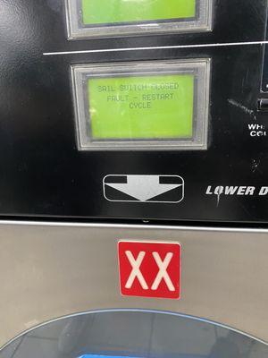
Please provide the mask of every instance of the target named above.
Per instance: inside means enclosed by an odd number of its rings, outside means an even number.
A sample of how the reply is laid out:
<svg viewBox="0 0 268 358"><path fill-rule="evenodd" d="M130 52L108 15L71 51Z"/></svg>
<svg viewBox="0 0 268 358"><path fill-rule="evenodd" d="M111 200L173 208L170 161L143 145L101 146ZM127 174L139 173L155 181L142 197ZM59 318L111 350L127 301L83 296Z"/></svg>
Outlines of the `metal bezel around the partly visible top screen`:
<svg viewBox="0 0 268 358"><path fill-rule="evenodd" d="M82 21L81 0L65 0L68 39L211 31L213 26L214 0L196 1L197 15L194 19L84 25Z"/></svg>

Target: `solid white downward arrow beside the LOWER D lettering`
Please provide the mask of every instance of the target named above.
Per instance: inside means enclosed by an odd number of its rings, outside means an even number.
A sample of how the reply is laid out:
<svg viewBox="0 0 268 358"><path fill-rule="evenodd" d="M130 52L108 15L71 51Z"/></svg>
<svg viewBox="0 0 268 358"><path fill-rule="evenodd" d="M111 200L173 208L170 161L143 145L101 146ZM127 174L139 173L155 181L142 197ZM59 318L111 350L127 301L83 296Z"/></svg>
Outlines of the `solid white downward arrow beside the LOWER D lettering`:
<svg viewBox="0 0 268 358"><path fill-rule="evenodd" d="M122 176L122 175L120 175ZM182 186L183 183L165 184L159 183L160 176L169 175L125 175L127 177L127 183L106 183L120 192L124 192L139 201L147 201L155 198L164 192L170 192L172 189L176 189ZM172 176L172 175L171 175ZM173 175L180 178L179 176Z"/></svg>

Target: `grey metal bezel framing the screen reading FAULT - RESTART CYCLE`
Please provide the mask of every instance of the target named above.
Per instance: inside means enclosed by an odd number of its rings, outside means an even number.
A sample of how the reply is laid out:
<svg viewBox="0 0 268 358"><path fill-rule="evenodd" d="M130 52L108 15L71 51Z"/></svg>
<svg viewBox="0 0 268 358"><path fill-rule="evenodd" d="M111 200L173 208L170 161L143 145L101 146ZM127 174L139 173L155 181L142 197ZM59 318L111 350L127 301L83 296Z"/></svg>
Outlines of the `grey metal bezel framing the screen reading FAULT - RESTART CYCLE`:
<svg viewBox="0 0 268 358"><path fill-rule="evenodd" d="M71 66L73 99L76 116L78 149L80 150L182 150L207 149L210 59L150 61L121 64L82 64ZM96 141L88 136L88 79L96 77L135 76L150 74L194 73L194 134L178 140L109 140Z"/></svg>

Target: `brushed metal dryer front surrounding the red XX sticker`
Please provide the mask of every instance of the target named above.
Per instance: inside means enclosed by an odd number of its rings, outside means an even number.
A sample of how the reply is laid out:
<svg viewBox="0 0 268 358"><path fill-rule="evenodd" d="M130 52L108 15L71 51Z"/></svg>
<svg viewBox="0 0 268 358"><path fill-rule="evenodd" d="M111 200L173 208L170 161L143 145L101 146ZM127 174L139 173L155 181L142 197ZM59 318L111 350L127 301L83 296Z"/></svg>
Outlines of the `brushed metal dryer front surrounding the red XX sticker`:
<svg viewBox="0 0 268 358"><path fill-rule="evenodd" d="M117 242L182 246L181 299L121 297ZM268 342L268 231L0 223L0 345L47 320L111 308L180 312Z"/></svg>

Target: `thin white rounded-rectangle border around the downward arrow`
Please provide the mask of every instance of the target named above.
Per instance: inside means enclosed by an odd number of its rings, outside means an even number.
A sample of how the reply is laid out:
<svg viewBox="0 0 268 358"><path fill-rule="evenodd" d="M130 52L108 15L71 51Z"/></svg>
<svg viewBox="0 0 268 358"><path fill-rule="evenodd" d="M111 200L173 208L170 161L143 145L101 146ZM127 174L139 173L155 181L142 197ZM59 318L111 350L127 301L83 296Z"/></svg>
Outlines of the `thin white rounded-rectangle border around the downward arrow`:
<svg viewBox="0 0 268 358"><path fill-rule="evenodd" d="M122 191L121 191L120 189L116 189L113 185L109 185L109 183L105 183L105 179L106 179L107 177L109 177L109 176L113 176L113 177L116 177L116 176L118 176L118 177L126 176L127 179L128 179L129 177L135 177L135 176L136 176L136 177L141 177L141 176L144 176L144 177L157 177L158 179L159 179L160 177L174 177L174 178L179 178L180 181L181 181L181 183L178 184L175 188L171 188L171 189L167 190L166 192L171 192L172 190L175 190L175 189L181 187L181 188L182 188L181 198L180 198L180 200L176 200L176 201L163 201L163 200L158 201L158 200L152 200L152 199L154 199L155 197L157 197L157 196L162 195L162 194L165 193L165 192L160 192L159 194L156 194L155 196L152 196L152 197L151 197L150 199L148 199L148 200L139 200L138 198L136 198L136 200L134 200L134 199L133 199L133 200L111 200L111 199L107 198L107 196L106 196L105 185L112 187L114 190L117 190L118 192L122 192ZM127 182L127 183L124 183L124 184L127 185L128 182ZM169 184L161 184L161 183L159 183L159 185L169 185ZM170 184L170 185L172 185L172 184ZM184 200L185 182L184 182L184 179L183 179L180 175L126 175L126 174L122 174L122 175L105 175L105 177L104 177L104 179L103 179L103 190L104 190L105 200L108 200L108 201L111 201L111 202L136 202L136 203L143 203L143 204L144 204L144 203L177 204L177 203L179 203L180 201ZM124 193L124 194L126 194L126 195L128 195L128 196L130 196L130 197L132 197L132 198L135 198L135 196L132 196L132 195L131 195L130 193L128 193L128 192L122 192L122 193Z"/></svg>

